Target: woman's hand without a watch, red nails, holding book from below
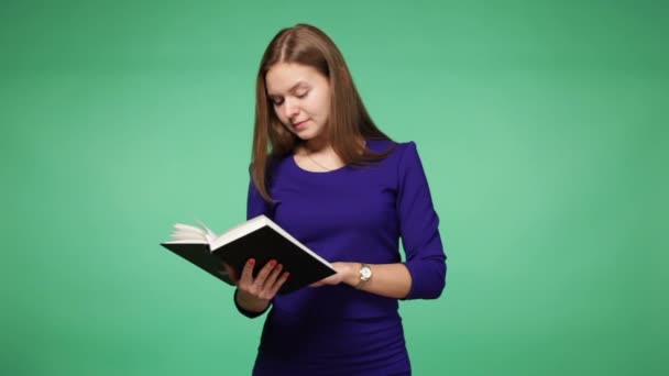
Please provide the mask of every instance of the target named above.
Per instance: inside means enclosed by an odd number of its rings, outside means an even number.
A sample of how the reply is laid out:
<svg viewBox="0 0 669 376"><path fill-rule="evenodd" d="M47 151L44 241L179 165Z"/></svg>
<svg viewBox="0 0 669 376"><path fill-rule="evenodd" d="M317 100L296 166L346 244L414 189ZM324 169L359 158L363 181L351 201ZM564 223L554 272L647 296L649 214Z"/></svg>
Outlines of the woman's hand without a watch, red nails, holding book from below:
<svg viewBox="0 0 669 376"><path fill-rule="evenodd" d="M277 264L275 259L270 261L253 278L253 267L255 259L249 258L244 264L241 277L227 264L223 264L228 275L237 285L237 302L245 310L262 312L270 306L270 301L276 295L276 291L288 279L289 273L282 274L283 265Z"/></svg>

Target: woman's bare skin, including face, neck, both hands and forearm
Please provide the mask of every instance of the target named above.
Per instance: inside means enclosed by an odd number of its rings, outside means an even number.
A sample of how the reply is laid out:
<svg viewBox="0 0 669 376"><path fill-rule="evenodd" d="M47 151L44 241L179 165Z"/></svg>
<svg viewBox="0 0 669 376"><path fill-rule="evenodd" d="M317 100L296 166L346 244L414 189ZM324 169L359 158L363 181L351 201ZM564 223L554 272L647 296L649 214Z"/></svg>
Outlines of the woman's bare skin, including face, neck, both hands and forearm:
<svg viewBox="0 0 669 376"><path fill-rule="evenodd" d="M267 71L265 85L277 118L288 131L305 141L295 151L297 165L306 170L321 173L343 167L343 162L332 150L327 136L331 97L328 78L309 66L277 63ZM283 265L273 259L253 278L254 266L255 261L249 259L240 276L227 265L226 269L238 287L238 303L249 311L261 312L270 306L289 275L282 273ZM337 274L311 287L339 284L355 287L360 283L360 266L355 262L332 263ZM412 277L404 264L374 264L370 267L372 278L364 284L363 290L390 298L407 296Z"/></svg>

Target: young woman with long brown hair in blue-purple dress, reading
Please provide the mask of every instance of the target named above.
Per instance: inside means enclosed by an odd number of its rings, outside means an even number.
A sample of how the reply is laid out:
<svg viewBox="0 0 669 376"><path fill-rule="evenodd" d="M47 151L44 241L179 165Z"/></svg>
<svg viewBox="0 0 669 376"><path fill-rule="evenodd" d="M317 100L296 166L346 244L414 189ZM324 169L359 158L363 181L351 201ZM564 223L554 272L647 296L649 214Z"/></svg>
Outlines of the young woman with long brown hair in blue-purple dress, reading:
<svg viewBox="0 0 669 376"><path fill-rule="evenodd" d="M398 300L441 295L439 219L416 145L376 128L314 26L279 31L263 55L251 176L248 217L273 219L337 270L282 296L289 274L275 261L232 276L240 312L271 308L253 374L410 374Z"/></svg>

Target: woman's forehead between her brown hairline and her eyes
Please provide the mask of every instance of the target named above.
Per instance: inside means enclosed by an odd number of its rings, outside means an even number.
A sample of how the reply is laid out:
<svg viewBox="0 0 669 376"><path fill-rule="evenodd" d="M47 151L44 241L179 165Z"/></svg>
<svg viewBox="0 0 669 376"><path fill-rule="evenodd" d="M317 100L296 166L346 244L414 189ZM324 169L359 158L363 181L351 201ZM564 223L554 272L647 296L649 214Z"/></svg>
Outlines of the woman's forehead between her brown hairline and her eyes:
<svg viewBox="0 0 669 376"><path fill-rule="evenodd" d="M277 63L265 75L265 86L271 96L283 95L305 86L327 85L327 78L318 70L296 63Z"/></svg>

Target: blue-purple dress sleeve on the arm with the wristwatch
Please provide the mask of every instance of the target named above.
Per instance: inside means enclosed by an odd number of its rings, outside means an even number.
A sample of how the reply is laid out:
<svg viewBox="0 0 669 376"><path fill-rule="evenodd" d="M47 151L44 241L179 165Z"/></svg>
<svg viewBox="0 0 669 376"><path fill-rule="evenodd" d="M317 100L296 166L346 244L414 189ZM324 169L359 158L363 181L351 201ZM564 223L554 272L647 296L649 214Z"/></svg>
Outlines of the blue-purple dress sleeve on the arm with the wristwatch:
<svg viewBox="0 0 669 376"><path fill-rule="evenodd" d="M446 254L439 218L415 143L408 143L399 162L397 211L406 267L412 288L406 299L438 298L446 286Z"/></svg>

